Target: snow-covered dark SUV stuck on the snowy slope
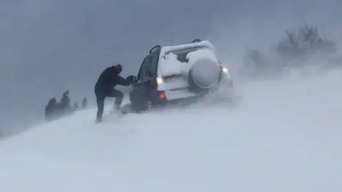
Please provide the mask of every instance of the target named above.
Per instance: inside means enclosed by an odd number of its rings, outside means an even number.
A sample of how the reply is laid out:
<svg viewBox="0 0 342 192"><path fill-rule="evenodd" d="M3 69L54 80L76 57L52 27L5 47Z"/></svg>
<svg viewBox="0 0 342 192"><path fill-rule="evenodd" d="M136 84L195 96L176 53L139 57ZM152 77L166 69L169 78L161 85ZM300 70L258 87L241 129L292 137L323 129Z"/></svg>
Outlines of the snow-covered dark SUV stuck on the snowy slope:
<svg viewBox="0 0 342 192"><path fill-rule="evenodd" d="M206 95L224 87L230 97L233 82L209 41L195 39L177 46L155 46L144 58L132 90L133 112L164 107L170 100Z"/></svg>

